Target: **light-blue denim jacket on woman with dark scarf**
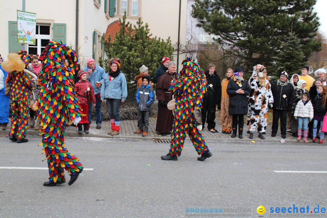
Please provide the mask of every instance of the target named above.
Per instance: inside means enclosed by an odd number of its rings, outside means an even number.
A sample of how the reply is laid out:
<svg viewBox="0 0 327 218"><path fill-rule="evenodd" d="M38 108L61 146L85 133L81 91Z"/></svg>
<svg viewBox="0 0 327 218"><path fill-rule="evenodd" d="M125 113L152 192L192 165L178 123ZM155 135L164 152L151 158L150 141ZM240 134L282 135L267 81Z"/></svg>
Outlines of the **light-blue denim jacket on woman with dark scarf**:
<svg viewBox="0 0 327 218"><path fill-rule="evenodd" d="M127 98L127 83L125 75L120 72L113 80L109 80L109 74L105 74L101 87L101 100L105 98L121 99Z"/></svg>

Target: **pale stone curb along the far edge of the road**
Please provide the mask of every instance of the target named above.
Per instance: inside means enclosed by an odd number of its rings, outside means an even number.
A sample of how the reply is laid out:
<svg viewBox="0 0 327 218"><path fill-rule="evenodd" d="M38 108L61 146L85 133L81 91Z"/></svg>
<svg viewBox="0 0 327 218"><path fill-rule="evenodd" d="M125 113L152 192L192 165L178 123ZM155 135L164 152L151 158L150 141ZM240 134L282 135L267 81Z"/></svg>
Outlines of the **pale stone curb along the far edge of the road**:
<svg viewBox="0 0 327 218"><path fill-rule="evenodd" d="M9 135L9 130L2 130L0 129L0 135ZM27 130L27 136L40 136L40 133L38 130ZM83 135L79 135L78 132L76 131L66 131L65 132L65 136L69 136L69 137L98 137L98 138L114 138L114 139L156 139L156 136L147 136L147 137L142 137L142 136L122 136L122 135L116 135L116 136L112 136L112 135L104 135L104 134L93 134L93 133L89 133L89 134L83 134ZM171 140L171 137L167 137L167 136L161 136L161 137L157 137L157 139L164 139L164 140ZM239 139L237 137L235 138L205 138L205 140L207 141L243 141L243 142L251 142L253 141L255 142L281 142L282 138L277 138L275 137L275 139L247 139L247 138L243 138L243 139ZM298 142L296 140L296 138L294 139L284 139L285 143L287 142L297 142L297 143L301 143Z"/></svg>

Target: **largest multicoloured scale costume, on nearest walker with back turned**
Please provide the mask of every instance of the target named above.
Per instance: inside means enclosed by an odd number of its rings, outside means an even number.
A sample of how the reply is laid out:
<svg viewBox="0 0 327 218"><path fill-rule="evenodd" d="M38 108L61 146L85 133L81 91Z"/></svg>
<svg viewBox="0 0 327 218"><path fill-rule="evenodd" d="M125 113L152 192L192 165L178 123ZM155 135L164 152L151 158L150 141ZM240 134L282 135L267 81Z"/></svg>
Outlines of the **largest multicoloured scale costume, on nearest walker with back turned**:
<svg viewBox="0 0 327 218"><path fill-rule="evenodd" d="M43 145L49 167L49 181L43 185L64 183L63 169L70 174L71 185L83 170L79 159L64 147L66 124L73 120L78 123L81 116L73 82L78 60L70 47L55 41L49 41L39 60L43 66L38 79L41 91L36 114L41 122L40 145Z"/></svg>

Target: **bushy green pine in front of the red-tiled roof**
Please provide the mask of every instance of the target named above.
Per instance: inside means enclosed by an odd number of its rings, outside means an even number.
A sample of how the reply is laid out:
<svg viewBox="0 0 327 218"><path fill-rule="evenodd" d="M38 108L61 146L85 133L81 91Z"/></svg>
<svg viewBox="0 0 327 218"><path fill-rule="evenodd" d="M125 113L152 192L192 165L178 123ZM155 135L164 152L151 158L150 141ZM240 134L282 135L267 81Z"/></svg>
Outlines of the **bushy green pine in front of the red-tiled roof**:
<svg viewBox="0 0 327 218"><path fill-rule="evenodd" d="M123 21L119 19L121 26L119 32L115 34L113 42L109 36L109 40L105 39L104 47L108 59L118 57L122 59L122 72L126 76L128 98L127 101L134 101L137 83L134 80L136 75L140 74L139 68L144 64L149 68L149 75L153 78L156 69L162 63L163 56L171 57L174 48L170 38L163 40L161 38L150 38L150 30L148 24L143 25L143 21L139 18L137 25L132 25L127 22L126 16ZM110 67L105 65L105 70L108 72Z"/></svg>

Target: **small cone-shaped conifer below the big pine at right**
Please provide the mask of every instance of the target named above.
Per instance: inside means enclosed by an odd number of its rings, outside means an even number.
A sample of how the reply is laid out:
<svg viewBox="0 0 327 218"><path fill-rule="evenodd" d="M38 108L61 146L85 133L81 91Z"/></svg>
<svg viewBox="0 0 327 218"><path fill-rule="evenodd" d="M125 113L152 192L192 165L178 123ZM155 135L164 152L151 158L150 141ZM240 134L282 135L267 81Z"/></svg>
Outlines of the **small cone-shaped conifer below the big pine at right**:
<svg viewBox="0 0 327 218"><path fill-rule="evenodd" d="M290 76L295 73L299 74L305 64L302 50L303 45L297 35L289 33L286 40L281 42L281 49L277 51L275 75L279 76L282 71L286 71Z"/></svg>

